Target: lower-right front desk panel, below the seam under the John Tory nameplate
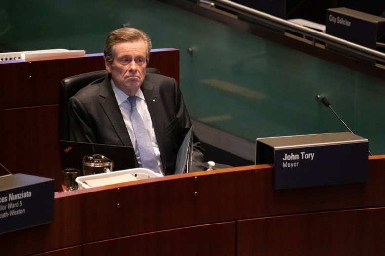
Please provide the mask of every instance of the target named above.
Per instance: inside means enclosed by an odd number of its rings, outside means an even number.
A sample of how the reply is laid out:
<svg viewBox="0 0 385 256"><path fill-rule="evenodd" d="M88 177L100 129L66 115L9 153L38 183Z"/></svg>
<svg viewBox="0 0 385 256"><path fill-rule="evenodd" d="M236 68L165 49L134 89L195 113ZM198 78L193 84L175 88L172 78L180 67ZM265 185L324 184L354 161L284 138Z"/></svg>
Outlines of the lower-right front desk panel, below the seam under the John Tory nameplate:
<svg viewBox="0 0 385 256"><path fill-rule="evenodd" d="M383 255L384 216L382 207L241 220L236 255Z"/></svg>

